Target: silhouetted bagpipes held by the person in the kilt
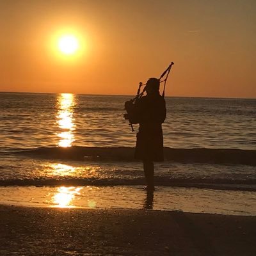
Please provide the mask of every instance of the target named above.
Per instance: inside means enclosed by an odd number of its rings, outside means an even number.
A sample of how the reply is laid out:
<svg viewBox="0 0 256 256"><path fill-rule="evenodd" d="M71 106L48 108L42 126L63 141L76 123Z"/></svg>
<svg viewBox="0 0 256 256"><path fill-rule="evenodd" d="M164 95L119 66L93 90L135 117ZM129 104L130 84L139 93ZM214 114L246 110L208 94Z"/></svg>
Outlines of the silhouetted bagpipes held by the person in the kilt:
<svg viewBox="0 0 256 256"><path fill-rule="evenodd" d="M159 78L159 83L164 83L164 88L163 88L163 93L162 93L162 97L164 97L164 91L165 91L165 85L166 85L166 81L168 79L168 76L170 74L170 71L172 69L172 65L174 63L172 62L168 68L166 68L166 70L164 70L163 74L161 74L160 78ZM165 76L165 78L161 81L161 79ZM144 86L145 87L143 88L143 91L140 92L141 90L141 86ZM136 97L134 97L134 99L131 99L127 102L125 102L124 104L124 108L125 110L127 111L127 113L124 114L124 118L125 120L129 120L129 125L131 125L131 129L132 129L132 132L134 132L134 129L132 127L132 124L138 124L139 123L139 120L138 120L138 116L136 115L132 115L132 110L134 108L136 108L136 103L141 99L141 97L143 96L143 93L145 93L145 91L147 90L147 83L143 84L140 82L139 84L139 88L138 88L138 91L137 91L137 95Z"/></svg>

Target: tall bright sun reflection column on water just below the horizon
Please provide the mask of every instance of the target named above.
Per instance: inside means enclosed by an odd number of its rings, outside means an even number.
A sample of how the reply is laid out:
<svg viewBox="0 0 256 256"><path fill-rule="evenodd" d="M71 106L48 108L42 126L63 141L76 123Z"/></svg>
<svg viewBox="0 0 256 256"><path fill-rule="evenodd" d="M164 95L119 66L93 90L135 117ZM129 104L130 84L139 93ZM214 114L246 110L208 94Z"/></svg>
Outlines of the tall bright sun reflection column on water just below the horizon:
<svg viewBox="0 0 256 256"><path fill-rule="evenodd" d="M59 147L71 147L74 138L74 106L75 100L72 93L61 93L58 95L58 113L56 115L58 127L62 130L58 133Z"/></svg>

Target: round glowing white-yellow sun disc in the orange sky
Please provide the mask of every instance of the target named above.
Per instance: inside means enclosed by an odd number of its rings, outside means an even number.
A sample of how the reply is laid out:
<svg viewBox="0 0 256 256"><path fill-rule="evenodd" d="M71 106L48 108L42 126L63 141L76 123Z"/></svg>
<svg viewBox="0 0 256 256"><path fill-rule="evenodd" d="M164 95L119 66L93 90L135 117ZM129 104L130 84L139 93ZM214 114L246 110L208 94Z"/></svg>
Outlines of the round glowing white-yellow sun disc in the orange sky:
<svg viewBox="0 0 256 256"><path fill-rule="evenodd" d="M79 42L74 35L63 35L58 41L58 47L63 54L71 55L78 50Z"/></svg>

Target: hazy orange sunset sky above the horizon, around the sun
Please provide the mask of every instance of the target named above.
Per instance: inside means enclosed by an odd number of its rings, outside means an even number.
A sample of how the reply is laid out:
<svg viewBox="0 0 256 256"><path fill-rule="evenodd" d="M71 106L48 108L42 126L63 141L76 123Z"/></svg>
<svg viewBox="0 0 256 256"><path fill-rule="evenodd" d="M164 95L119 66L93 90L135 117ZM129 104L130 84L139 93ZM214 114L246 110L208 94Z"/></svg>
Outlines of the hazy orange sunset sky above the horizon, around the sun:
<svg viewBox="0 0 256 256"><path fill-rule="evenodd" d="M256 98L255 0L0 0L0 92ZM74 35L79 51L56 42Z"/></svg>

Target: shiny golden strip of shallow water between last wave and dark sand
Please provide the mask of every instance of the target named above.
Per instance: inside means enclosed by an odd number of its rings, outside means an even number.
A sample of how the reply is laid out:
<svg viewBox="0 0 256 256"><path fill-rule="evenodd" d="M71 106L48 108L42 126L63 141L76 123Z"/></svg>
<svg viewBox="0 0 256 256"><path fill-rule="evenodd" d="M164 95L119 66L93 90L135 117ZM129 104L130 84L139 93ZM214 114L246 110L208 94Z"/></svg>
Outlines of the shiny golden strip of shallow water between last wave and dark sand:
<svg viewBox="0 0 256 256"><path fill-rule="evenodd" d="M255 202L256 193L253 191L157 186L154 195L147 195L141 186L0 188L0 204L33 207L129 208L255 215Z"/></svg>

